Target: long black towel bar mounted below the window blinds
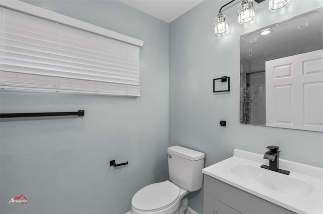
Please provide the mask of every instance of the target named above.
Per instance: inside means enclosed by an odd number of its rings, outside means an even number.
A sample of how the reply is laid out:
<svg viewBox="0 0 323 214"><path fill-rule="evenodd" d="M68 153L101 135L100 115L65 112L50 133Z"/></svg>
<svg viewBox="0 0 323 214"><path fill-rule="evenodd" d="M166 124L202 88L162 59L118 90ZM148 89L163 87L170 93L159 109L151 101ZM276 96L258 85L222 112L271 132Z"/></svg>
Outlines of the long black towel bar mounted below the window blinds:
<svg viewBox="0 0 323 214"><path fill-rule="evenodd" d="M51 116L84 116L84 110L77 112L45 112L45 113L9 113L0 114L0 118L26 118L26 117L51 117Z"/></svg>

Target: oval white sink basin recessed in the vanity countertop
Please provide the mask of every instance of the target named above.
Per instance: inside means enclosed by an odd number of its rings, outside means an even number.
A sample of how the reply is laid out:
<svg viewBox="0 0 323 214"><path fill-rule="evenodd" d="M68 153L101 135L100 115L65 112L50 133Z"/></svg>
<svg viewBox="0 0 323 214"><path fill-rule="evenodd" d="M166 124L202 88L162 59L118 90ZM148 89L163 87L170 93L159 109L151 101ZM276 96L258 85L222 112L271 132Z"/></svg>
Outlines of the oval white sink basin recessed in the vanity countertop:
<svg viewBox="0 0 323 214"><path fill-rule="evenodd" d="M306 196L313 190L313 186L307 182L251 165L235 165L231 168L231 172L245 182L261 185L286 195Z"/></svg>

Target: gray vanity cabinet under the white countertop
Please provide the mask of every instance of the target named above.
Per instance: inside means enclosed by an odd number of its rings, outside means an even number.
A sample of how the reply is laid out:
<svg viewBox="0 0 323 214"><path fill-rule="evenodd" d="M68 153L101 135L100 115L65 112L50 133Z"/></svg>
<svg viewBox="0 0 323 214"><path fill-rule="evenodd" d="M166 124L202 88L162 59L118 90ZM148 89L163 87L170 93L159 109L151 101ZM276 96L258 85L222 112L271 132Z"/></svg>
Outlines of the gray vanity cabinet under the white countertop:
<svg viewBox="0 0 323 214"><path fill-rule="evenodd" d="M204 214L295 214L204 174Z"/></svg>

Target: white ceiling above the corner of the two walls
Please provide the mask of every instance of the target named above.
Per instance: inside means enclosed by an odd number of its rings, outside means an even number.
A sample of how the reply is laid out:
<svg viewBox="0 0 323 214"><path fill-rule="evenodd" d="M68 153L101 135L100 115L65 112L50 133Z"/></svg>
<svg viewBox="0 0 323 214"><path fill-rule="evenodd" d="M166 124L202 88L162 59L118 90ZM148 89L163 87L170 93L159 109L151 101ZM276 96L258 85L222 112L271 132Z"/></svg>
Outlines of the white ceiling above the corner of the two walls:
<svg viewBox="0 0 323 214"><path fill-rule="evenodd" d="M204 0L119 0L167 23L194 8Z"/></svg>

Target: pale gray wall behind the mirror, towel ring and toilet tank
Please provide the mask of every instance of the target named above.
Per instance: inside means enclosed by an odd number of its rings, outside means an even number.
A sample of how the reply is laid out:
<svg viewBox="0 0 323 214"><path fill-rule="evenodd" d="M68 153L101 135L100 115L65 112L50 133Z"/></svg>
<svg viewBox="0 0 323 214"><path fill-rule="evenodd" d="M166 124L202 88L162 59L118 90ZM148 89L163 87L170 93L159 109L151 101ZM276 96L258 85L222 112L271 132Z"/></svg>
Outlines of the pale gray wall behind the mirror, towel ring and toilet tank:
<svg viewBox="0 0 323 214"><path fill-rule="evenodd" d="M268 1L255 3L255 20L239 25L240 1L222 12L230 34L216 36L213 19L228 1L205 1L170 23L170 145L206 155L205 166L233 155L233 149L263 154L280 147L281 158L323 167L323 133L239 124L240 35L323 5L323 1L291 1L281 11ZM212 93L212 79L230 76L231 92ZM227 127L219 125L227 121ZM202 213L202 190L190 193L190 206Z"/></svg>

